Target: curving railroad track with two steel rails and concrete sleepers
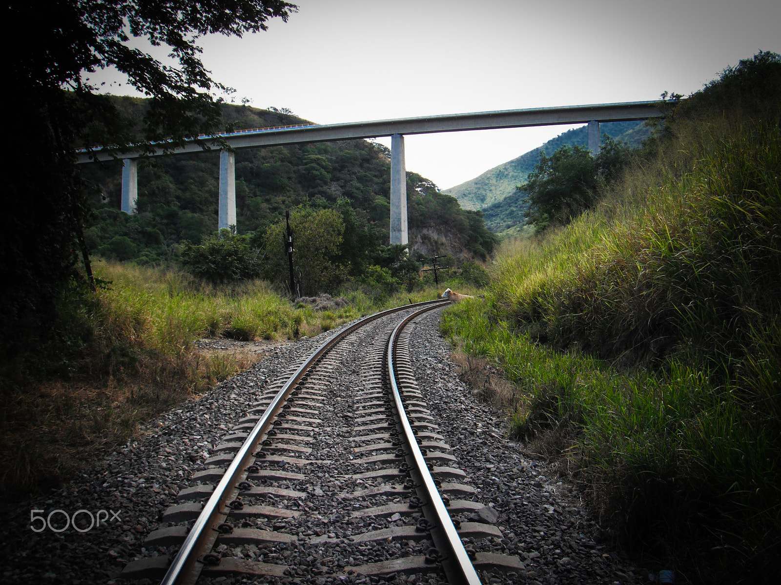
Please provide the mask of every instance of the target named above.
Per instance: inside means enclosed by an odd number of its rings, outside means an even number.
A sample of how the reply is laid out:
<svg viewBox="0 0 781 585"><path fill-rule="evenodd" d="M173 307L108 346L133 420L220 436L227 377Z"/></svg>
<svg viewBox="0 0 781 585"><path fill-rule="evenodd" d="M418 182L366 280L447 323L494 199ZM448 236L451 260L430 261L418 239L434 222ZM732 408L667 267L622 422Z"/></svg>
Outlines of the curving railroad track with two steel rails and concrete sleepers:
<svg viewBox="0 0 781 585"><path fill-rule="evenodd" d="M477 585L478 571L505 580L523 569L469 545L501 539L496 512L473 502L412 372L408 325L447 303L366 317L294 364L162 512L166 526L144 546L170 556L121 576L376 583L401 573Z"/></svg>

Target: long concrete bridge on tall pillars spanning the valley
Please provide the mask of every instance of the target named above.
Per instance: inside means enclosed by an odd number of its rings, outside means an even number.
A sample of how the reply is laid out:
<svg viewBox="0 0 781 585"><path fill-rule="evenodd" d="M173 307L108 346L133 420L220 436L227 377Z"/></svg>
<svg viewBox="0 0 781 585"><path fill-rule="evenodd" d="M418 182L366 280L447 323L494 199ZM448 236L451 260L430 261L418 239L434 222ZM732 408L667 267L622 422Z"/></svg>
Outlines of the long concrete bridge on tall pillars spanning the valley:
<svg viewBox="0 0 781 585"><path fill-rule="evenodd" d="M374 122L349 122L346 124L312 124L284 128L257 129L221 134L231 150L219 153L219 221L218 229L236 225L236 173L235 154L238 148L303 144L331 140L355 140L359 138L391 137L391 243L408 243L407 230L407 176L404 157L406 134L437 132L462 132L495 128L520 128L524 126L554 126L558 124L588 124L589 149L599 151L600 122L629 122L661 115L658 101L634 101L619 104L577 105L563 108L534 108L475 112L471 114L434 115L421 118L377 120ZM209 138L201 140L216 146ZM194 140L173 154L204 150ZM162 152L159 154L163 154ZM154 156L158 156L155 154ZM126 153L122 172L122 211L133 213L138 195L137 162L141 154ZM112 160L108 152L79 153L79 162Z"/></svg>

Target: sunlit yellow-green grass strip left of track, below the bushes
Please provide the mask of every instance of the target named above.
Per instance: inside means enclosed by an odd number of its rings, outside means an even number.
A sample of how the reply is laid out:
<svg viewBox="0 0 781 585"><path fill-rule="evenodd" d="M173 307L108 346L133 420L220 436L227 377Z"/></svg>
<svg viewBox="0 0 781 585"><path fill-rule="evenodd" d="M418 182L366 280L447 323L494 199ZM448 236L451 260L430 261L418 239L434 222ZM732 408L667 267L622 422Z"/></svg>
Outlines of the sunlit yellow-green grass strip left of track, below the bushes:
<svg viewBox="0 0 781 585"><path fill-rule="evenodd" d="M341 292L348 306L316 311L294 307L263 281L214 287L178 271L106 261L95 262L95 274L110 282L98 291L98 336L109 343L130 343L169 355L186 352L195 339L203 337L250 341L317 335L410 300L433 299L446 286L392 295L348 288ZM473 287L464 288L473 291Z"/></svg>

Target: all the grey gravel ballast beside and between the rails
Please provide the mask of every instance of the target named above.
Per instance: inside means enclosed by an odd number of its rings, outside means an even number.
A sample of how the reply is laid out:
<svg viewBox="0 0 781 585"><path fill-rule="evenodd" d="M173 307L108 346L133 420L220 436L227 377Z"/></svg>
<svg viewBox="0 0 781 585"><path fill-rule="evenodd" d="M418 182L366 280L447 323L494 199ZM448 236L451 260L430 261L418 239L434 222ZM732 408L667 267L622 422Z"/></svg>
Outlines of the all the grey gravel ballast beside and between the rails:
<svg viewBox="0 0 781 585"><path fill-rule="evenodd" d="M458 367L451 363L451 347L438 332L440 310L419 317L412 325L411 363L419 391L427 408L451 447L457 462L451 466L464 470L464 484L476 488L474 500L490 506L501 530L501 539L468 543L477 551L518 555L525 570L509 576L487 576L492 583L639 583L637 573L604 545L594 541L597 527L590 520L576 489L557 479L551 467L523 456L520 445L508 440L507 425L501 413L478 402L458 378ZM333 367L336 379L326 401L298 399L298 407L312 410L320 420L311 434L301 433L301 445L312 451L302 457L312 463L290 465L267 463L267 469L305 474L307 479L275 482L276 488L289 489L305 497L277 496L258 498L252 505L274 505L299 512L280 521L251 521L252 527L290 534L287 544L259 548L255 545L230 548L226 555L284 563L290 574L262 577L270 583L313 583L326 585L341 581L362 581L359 576L340 576L345 567L378 562L387 558L418 555L426 541L355 544L351 537L389 526L401 526L408 519L384 521L377 518L355 519L348 512L387 504L387 496L362 498L354 502L345 497L373 484L356 480L355 473L366 471L356 463L358 456L338 446L354 437L355 390L361 388L362 367L369 346L382 335L380 321L369 325L355 342L355 351L341 351L340 363ZM167 555L165 547L144 547L144 538L162 523L161 514L169 506L181 504L177 495L192 488L193 473L206 469L206 460L219 455L216 447L223 437L246 416L251 403L262 399L274 381L290 371L301 358L311 353L330 335L269 349L265 358L249 371L223 382L201 399L180 405L144 427L135 441L109 453L104 460L84 470L66 487L29 504L13 505L0 530L2 541L2 581L8 583L122 583L123 567L138 558ZM294 403L294 407L297 405ZM315 414L316 412L316 414ZM288 441L293 444L294 441ZM353 441L349 447L360 446ZM348 449L349 450L349 449ZM366 453L371 455L371 453ZM390 498L393 502L393 498ZM30 511L42 516L30 526ZM54 512L62 510L62 512ZM99 526L78 532L68 527L62 533L52 530L64 526L65 515L86 510L101 520ZM105 510L105 512L100 512ZM86 529L90 515L80 512L77 527ZM50 516L52 515L52 516ZM491 516L490 511L483 516ZM51 527L45 525L50 519ZM464 514L464 522L476 518ZM178 522L180 523L180 522ZM241 523L237 523L237 526ZM241 583L241 577L202 577L204 583ZM438 583L434 575L399 574L395 583ZM136 580L134 583L152 583ZM155 581L156 582L156 581Z"/></svg>

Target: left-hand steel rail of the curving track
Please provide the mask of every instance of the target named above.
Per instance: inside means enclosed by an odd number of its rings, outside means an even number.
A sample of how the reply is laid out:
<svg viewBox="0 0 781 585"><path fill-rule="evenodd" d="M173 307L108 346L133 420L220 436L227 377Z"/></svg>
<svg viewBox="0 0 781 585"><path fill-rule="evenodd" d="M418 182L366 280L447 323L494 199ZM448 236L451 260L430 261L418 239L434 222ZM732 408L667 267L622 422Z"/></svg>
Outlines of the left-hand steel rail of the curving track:
<svg viewBox="0 0 781 585"><path fill-rule="evenodd" d="M301 378L304 377L306 371L337 342L340 342L346 335L349 335L351 332L354 332L355 329L362 327L370 321L411 307L422 307L432 304L438 306L442 303L443 301L439 299L424 301L423 303L412 303L401 307L394 307L393 309L383 310L380 311L380 313L369 315L368 317L363 317L362 319L355 321L355 323L351 324L348 328L337 333L337 335L334 335L331 339L323 343L322 346L312 352L307 360L301 364L301 367L287 379L279 392L276 393L274 399L266 408L262 417L260 417L260 420L258 420L255 427L252 428L247 438L244 440L241 449L238 450L236 456L223 475L223 479L219 481L214 493L212 493L211 498L209 498L209 502L206 502L206 505L201 510L200 516L195 520L192 529L184 540L184 544L182 544L177 556L173 559L173 562L171 562L166 576L163 577L160 582L161 585L184 585L185 583L195 583L195 581L198 580L198 576L202 569L199 556L209 552L206 551L205 548L209 544L213 544L213 541L216 538L216 534L212 534L212 524L214 523L216 516L224 513L223 508L226 505L226 502L233 497L234 491L236 490L235 485L240 479L241 474L244 473L244 470L250 464L250 459L253 452L255 452L255 448L262 438L266 436L269 427L271 427L273 420L281 410L288 395L291 394L293 388L301 381Z"/></svg>

